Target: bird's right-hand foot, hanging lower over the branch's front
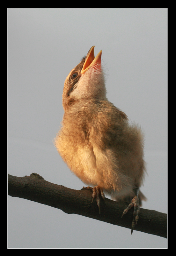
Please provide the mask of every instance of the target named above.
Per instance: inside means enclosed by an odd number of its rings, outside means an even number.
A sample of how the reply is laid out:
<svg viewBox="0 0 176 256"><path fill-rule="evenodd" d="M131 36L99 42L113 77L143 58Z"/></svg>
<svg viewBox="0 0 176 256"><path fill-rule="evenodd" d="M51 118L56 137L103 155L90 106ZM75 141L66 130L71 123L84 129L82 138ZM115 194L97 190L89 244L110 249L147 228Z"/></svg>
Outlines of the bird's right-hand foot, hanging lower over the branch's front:
<svg viewBox="0 0 176 256"><path fill-rule="evenodd" d="M131 225L131 235L133 233L133 229L135 225L137 224L137 221L139 219L139 198L138 196L134 196L133 199L131 200L131 203L128 205L128 207L123 211L121 217L123 217L124 214L128 212L129 209L131 209L134 206L134 212L133 212L133 221Z"/></svg>

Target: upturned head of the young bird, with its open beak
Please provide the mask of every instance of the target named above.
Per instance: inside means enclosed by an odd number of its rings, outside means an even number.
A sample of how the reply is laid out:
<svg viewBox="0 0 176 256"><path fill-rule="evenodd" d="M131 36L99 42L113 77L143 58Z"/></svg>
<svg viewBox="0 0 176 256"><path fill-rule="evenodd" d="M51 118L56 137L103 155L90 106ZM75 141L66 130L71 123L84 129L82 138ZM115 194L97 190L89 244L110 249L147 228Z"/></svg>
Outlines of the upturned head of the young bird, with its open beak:
<svg viewBox="0 0 176 256"><path fill-rule="evenodd" d="M94 47L91 47L87 56L71 70L65 80L62 95L64 109L81 99L106 99L101 51L95 57Z"/></svg>

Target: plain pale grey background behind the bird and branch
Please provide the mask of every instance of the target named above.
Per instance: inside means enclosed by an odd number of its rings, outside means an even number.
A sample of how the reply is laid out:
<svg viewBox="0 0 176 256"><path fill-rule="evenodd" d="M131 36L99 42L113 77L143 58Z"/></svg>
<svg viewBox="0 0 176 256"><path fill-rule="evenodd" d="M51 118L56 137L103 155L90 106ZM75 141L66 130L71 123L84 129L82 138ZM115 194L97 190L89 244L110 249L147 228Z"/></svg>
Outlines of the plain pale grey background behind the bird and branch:
<svg viewBox="0 0 176 256"><path fill-rule="evenodd" d="M145 132L143 208L167 212L167 9L8 9L8 172L80 190L53 145L65 78L102 50L108 100ZM91 200L91 199L90 199ZM167 248L165 238L8 197L8 248Z"/></svg>

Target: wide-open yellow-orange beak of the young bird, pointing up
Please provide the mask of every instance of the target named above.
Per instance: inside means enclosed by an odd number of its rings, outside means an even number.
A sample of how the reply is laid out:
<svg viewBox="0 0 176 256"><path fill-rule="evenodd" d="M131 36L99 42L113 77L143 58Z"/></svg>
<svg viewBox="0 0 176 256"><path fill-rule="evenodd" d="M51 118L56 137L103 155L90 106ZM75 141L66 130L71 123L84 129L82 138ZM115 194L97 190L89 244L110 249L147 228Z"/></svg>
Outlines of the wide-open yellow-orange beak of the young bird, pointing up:
<svg viewBox="0 0 176 256"><path fill-rule="evenodd" d="M88 68L94 66L95 63L101 64L101 52L102 51L100 51L97 54L97 56L95 57L94 48L95 48L95 46L92 46L91 49L89 50L89 52L87 53L83 68L81 70L82 74L84 74L87 71Z"/></svg>

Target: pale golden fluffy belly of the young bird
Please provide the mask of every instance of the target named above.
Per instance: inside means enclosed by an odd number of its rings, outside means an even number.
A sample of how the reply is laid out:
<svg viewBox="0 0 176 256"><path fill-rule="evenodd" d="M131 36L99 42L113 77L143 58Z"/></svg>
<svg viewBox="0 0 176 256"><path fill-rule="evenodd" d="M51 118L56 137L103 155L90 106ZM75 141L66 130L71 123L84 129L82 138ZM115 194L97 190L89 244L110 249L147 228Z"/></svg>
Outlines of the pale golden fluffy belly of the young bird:
<svg viewBox="0 0 176 256"><path fill-rule="evenodd" d="M85 184L99 185L110 193L131 190L131 179L122 174L120 164L110 150L101 150L89 143L73 145L68 138L67 143L63 143L62 139L57 140L59 154L70 170Z"/></svg>

